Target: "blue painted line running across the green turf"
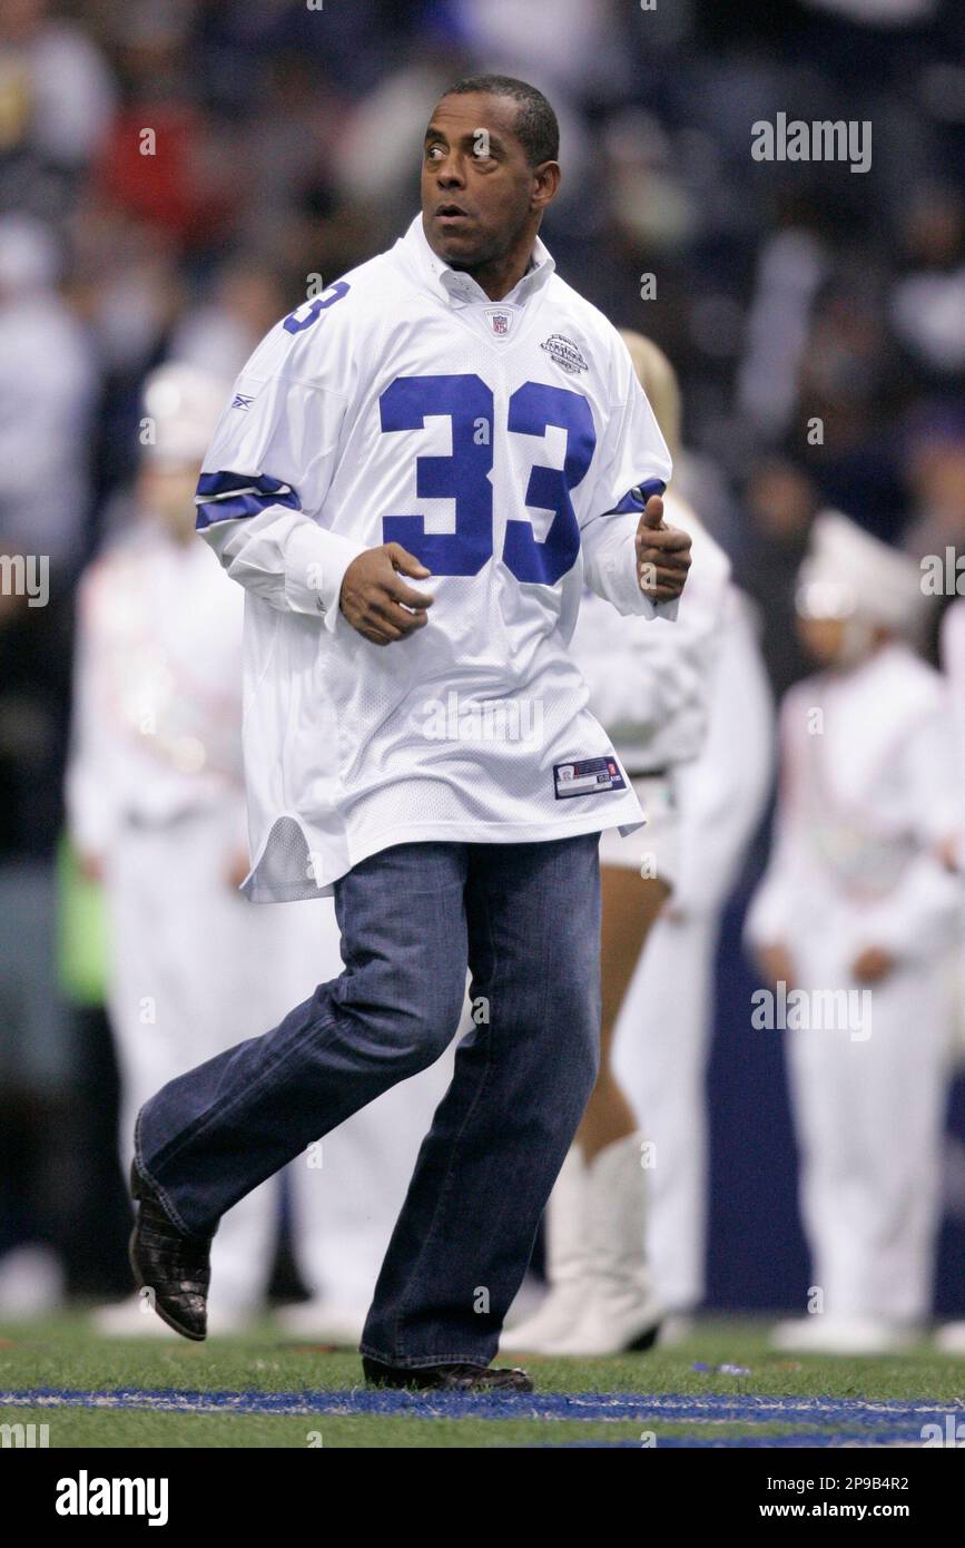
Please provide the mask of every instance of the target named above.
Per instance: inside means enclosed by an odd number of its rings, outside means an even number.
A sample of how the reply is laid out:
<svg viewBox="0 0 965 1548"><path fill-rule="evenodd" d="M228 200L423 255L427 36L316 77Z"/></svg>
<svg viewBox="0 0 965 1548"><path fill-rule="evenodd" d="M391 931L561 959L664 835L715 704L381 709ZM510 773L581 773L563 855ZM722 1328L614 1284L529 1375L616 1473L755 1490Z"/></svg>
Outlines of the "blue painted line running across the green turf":
<svg viewBox="0 0 965 1548"><path fill-rule="evenodd" d="M153 1413L264 1413L317 1418L319 1415L382 1415L424 1420L540 1420L633 1423L657 1430L657 1446L895 1446L920 1444L922 1426L943 1424L948 1413L965 1413L965 1404L840 1398L761 1398L727 1393L419 1393L377 1392L365 1387L342 1392L186 1392L173 1387L144 1390L119 1387L104 1392L77 1392L59 1387L32 1387L0 1392L0 1407L31 1409L133 1409ZM748 1435L693 1438L685 1424L764 1424L807 1426L793 1435ZM676 1432L676 1433L674 1433ZM577 1441L575 1444L592 1444ZM600 1444L639 1444L603 1441Z"/></svg>

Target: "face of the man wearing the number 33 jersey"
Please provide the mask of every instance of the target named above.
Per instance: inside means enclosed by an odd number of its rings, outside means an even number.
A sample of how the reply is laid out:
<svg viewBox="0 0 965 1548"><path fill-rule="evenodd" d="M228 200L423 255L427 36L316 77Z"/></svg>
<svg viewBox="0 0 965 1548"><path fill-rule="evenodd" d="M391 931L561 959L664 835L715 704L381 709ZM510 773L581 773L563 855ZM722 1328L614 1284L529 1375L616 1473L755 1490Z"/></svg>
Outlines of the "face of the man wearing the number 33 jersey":
<svg viewBox="0 0 965 1548"><path fill-rule="evenodd" d="M448 96L425 130L422 224L433 252L456 268L501 259L543 207L517 111L512 98L486 91Z"/></svg>

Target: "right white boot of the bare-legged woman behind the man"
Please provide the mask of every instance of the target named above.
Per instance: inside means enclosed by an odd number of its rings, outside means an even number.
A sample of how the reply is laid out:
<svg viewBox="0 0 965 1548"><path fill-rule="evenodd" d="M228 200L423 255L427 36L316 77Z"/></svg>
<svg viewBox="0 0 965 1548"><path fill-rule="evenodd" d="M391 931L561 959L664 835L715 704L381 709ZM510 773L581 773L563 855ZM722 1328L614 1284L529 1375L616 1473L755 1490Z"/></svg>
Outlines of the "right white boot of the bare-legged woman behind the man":
<svg viewBox="0 0 965 1548"><path fill-rule="evenodd" d="M646 1266L646 1175L640 1135L600 1150L586 1172L592 1280L583 1314L558 1354L619 1354L656 1341L662 1311Z"/></svg>

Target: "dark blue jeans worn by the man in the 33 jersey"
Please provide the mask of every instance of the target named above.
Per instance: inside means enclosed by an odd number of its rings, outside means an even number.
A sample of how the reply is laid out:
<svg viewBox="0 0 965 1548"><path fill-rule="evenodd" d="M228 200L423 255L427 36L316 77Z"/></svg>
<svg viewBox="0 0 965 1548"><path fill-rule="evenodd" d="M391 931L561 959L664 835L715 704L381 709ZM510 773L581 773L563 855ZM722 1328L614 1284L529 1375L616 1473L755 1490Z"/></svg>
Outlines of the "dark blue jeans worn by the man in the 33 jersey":
<svg viewBox="0 0 965 1548"><path fill-rule="evenodd" d="M594 1085L598 834L401 844L336 884L345 971L141 1110L138 1169L182 1231L475 1026L416 1161L362 1334L393 1365L487 1365Z"/></svg>

